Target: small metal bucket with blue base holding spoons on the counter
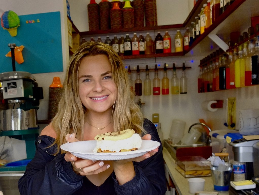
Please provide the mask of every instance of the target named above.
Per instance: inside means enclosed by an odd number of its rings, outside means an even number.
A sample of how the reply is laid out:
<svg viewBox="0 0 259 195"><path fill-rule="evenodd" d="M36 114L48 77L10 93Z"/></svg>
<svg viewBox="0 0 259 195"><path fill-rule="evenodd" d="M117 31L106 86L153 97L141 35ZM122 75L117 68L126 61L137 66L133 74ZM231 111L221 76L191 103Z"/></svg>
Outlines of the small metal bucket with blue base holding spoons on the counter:
<svg viewBox="0 0 259 195"><path fill-rule="evenodd" d="M212 167L211 176L214 184L214 190L228 191L231 173L231 167L229 167L227 171L219 171L218 167Z"/></svg>

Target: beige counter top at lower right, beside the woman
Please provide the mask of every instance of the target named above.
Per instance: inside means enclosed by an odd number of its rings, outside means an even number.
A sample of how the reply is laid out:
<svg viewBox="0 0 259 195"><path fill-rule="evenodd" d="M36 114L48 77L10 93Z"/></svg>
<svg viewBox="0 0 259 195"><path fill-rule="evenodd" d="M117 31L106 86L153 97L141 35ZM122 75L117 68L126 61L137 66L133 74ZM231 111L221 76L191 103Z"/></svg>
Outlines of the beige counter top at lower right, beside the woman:
<svg viewBox="0 0 259 195"><path fill-rule="evenodd" d="M166 162L166 166L168 167L170 177L172 178L176 190L180 195L193 195L189 192L189 184L187 179L183 177L176 169L175 169L175 160L171 157L170 153L167 149L163 148L163 158ZM207 192L219 192L219 195L228 195L228 191L216 191L213 187L213 181L211 176L202 177L205 179L204 191Z"/></svg>

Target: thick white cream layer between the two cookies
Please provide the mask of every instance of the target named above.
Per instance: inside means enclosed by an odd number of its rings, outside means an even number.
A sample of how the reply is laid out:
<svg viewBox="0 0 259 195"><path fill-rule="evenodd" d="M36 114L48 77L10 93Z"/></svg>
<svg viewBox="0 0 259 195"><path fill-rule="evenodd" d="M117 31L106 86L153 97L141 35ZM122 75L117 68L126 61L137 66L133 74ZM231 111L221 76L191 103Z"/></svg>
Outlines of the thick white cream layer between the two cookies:
<svg viewBox="0 0 259 195"><path fill-rule="evenodd" d="M97 152L100 148L103 150L110 150L119 152L121 149L130 150L132 148L140 148L142 139L139 134L134 133L130 138L121 139L121 140L96 140L96 147L93 149L93 152Z"/></svg>

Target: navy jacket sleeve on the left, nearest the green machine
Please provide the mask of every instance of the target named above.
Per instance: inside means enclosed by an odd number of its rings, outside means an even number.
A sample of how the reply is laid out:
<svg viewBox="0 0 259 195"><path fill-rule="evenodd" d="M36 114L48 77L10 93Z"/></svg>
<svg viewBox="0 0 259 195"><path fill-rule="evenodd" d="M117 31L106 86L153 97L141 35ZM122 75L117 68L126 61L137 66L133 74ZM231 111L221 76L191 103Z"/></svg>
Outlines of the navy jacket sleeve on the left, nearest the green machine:
<svg viewBox="0 0 259 195"><path fill-rule="evenodd" d="M54 156L55 147L51 137L40 136L36 140L35 156L26 166L24 175L18 181L21 195L31 194L72 194L82 185L82 176L72 170L71 163L64 159L65 154Z"/></svg>

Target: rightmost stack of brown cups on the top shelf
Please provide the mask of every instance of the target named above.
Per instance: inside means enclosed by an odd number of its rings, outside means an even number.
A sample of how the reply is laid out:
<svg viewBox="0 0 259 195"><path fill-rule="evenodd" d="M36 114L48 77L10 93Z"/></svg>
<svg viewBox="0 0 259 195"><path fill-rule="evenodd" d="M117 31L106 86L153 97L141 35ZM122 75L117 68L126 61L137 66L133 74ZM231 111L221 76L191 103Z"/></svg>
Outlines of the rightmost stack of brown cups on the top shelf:
<svg viewBox="0 0 259 195"><path fill-rule="evenodd" d="M144 0L146 26L157 26L156 0Z"/></svg>

